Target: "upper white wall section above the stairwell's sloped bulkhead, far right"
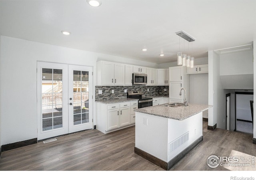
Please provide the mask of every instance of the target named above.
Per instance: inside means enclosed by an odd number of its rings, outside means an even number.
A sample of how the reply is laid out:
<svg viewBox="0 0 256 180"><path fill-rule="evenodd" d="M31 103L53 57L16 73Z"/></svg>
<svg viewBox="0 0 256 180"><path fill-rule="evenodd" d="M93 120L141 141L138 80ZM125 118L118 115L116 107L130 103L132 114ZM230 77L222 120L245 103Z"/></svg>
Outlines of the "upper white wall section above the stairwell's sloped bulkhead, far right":
<svg viewBox="0 0 256 180"><path fill-rule="evenodd" d="M220 55L220 75L253 74L253 51Z"/></svg>

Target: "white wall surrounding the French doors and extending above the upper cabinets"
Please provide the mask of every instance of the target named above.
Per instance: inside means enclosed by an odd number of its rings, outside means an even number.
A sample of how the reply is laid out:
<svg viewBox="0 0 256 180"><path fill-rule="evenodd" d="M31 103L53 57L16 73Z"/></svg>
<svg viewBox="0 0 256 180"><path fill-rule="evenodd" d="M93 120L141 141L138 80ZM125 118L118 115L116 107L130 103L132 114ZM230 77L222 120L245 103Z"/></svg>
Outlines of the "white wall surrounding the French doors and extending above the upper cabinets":
<svg viewBox="0 0 256 180"><path fill-rule="evenodd" d="M4 104L1 107L2 144L37 138L37 60L94 66L95 72L99 59L157 67L154 63L6 36L1 36L1 50L1 104ZM95 80L94 76L94 84Z"/></svg>

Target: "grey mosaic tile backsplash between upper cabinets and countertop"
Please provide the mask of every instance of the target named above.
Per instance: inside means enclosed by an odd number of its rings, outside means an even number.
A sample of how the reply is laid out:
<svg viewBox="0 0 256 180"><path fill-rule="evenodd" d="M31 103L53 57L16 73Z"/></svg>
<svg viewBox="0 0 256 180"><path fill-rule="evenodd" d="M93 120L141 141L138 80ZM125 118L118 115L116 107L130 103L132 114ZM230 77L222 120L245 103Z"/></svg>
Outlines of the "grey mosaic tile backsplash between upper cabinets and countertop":
<svg viewBox="0 0 256 180"><path fill-rule="evenodd" d="M166 89L166 91L164 91ZM102 90L102 94L98 94L98 90ZM114 90L114 94L112 94ZM145 96L168 96L169 86L146 86L146 85L133 85L133 86L95 86L95 99L107 100L126 98L127 91L142 91Z"/></svg>

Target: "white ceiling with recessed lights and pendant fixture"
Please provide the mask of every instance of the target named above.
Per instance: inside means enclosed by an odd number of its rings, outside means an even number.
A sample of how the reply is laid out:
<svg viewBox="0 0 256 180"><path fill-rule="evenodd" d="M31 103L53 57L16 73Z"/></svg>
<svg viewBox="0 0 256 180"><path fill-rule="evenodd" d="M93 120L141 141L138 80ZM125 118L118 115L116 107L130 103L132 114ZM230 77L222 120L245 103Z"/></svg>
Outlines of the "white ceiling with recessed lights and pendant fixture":
<svg viewBox="0 0 256 180"><path fill-rule="evenodd" d="M191 50L175 34L181 30L196 39L195 58L252 44L256 0L102 0L97 8L86 0L0 1L1 35L158 64L175 61L180 46Z"/></svg>

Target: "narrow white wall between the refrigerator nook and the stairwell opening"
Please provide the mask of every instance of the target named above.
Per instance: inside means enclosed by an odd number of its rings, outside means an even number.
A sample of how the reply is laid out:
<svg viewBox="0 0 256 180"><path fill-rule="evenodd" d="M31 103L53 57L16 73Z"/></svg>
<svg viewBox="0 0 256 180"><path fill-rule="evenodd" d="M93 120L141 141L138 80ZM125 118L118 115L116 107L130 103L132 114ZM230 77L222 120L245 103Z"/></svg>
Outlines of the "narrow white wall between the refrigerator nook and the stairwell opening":
<svg viewBox="0 0 256 180"><path fill-rule="evenodd" d="M226 93L220 80L220 56L213 51L208 52L208 103L213 108L208 110L208 125L226 129Z"/></svg>

